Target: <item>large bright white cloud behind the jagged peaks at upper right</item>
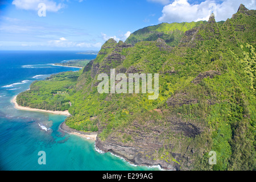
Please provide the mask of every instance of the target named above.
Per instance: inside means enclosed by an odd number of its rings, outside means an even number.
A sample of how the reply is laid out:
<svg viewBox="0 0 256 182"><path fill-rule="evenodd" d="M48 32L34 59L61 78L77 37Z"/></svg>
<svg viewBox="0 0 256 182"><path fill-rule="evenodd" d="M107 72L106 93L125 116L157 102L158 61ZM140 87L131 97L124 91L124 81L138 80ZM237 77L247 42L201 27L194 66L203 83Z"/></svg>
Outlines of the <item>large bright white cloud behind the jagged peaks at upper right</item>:
<svg viewBox="0 0 256 182"><path fill-rule="evenodd" d="M255 0L224 0L222 3L206 0L200 4L190 4L188 0L175 0L163 7L162 16L159 22L192 22L208 20L213 12L218 21L231 18L237 12L240 4L243 3L247 9L256 9Z"/></svg>

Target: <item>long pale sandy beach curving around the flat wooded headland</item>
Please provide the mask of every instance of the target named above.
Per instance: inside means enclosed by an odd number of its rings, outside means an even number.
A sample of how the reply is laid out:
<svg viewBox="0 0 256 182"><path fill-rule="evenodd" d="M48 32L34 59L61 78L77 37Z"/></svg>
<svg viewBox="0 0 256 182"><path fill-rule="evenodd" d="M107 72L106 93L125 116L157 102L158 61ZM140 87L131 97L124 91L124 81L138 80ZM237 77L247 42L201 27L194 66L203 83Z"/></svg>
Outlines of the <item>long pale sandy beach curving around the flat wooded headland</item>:
<svg viewBox="0 0 256 182"><path fill-rule="evenodd" d="M11 100L11 103L13 103L15 109L18 109L18 110L37 111L37 112L42 112L42 113L51 113L51 114L59 114L59 115L71 115L68 112L68 110L65 110L65 111L53 111L53 110L43 110L43 109L35 109L35 108L31 108L31 107L20 106L16 102L16 97L17 96L14 96L14 98Z"/></svg>

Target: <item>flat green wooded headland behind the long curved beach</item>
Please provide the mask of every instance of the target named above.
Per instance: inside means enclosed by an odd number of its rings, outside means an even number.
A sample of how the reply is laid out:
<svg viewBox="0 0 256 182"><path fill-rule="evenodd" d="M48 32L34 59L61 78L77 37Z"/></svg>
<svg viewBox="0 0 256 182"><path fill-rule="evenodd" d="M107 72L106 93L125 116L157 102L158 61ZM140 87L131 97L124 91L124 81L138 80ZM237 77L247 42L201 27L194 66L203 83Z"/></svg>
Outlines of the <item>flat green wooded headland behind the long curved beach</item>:
<svg viewBox="0 0 256 182"><path fill-rule="evenodd" d="M51 75L43 81L34 81L30 90L20 93L16 100L21 106L44 110L68 110L70 96L75 92L80 72L63 72Z"/></svg>

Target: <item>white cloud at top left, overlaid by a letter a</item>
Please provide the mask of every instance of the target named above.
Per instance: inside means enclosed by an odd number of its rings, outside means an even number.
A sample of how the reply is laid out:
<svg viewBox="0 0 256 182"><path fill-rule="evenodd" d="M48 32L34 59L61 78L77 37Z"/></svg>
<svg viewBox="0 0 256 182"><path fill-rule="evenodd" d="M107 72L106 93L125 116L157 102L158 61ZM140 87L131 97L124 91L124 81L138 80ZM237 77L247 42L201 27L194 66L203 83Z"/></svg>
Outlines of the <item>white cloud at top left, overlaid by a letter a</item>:
<svg viewBox="0 0 256 182"><path fill-rule="evenodd" d="M52 0L14 0L13 5L15 5L18 9L23 10L35 10L38 11L40 8L38 7L39 3L46 4L46 11L57 12L60 9L63 9L65 5L63 3L56 3Z"/></svg>

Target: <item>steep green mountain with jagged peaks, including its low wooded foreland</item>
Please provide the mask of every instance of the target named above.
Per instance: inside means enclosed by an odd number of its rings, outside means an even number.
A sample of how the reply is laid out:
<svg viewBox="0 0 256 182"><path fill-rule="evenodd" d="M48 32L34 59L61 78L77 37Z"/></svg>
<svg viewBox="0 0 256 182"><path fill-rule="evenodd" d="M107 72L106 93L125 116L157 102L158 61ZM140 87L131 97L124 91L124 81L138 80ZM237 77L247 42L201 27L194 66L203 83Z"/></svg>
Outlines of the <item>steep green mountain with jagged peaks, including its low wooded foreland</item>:
<svg viewBox="0 0 256 182"><path fill-rule="evenodd" d="M224 23L211 16L208 22L142 28L125 43L109 39L82 71L36 82L17 102L29 106L47 88L49 100L56 97L51 81L76 77L59 91L57 106L63 110L70 103L66 125L97 131L96 147L102 151L167 169L253 170L255 15L240 5ZM148 93L98 93L97 76L110 75L110 69L126 75L159 73L158 99L148 100ZM215 165L209 164L210 151L217 154Z"/></svg>

